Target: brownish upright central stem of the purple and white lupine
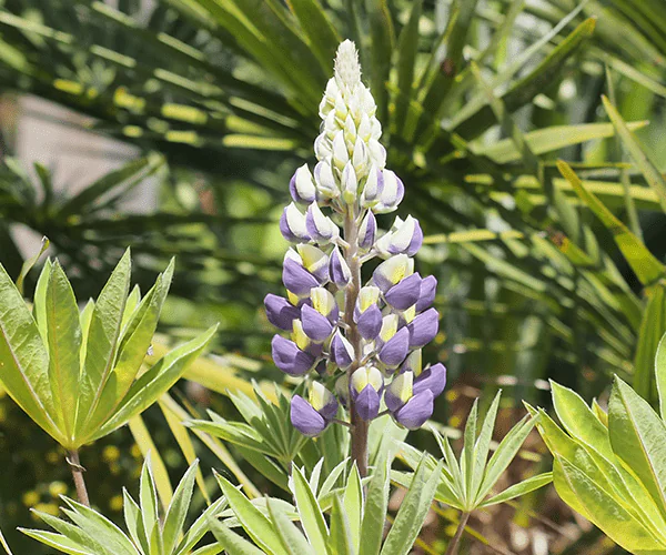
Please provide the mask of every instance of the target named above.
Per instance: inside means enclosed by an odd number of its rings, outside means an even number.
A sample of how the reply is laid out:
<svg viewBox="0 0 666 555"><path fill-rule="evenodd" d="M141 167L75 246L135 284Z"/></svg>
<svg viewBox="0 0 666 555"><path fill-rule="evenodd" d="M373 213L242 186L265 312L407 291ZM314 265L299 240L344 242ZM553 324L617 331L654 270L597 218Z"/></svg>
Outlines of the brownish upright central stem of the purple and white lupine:
<svg viewBox="0 0 666 555"><path fill-rule="evenodd" d="M354 322L354 309L361 290L361 260L359 258L359 225L353 210L346 214L344 220L344 240L349 243L345 249L345 261L352 272L352 281L345 291L344 321L349 326L349 341L354 347L354 362L347 370L347 376L361 366L362 342L361 334ZM356 463L361 477L367 476L367 428L369 423L359 416L353 400L350 397L350 414L352 427L352 461Z"/></svg>

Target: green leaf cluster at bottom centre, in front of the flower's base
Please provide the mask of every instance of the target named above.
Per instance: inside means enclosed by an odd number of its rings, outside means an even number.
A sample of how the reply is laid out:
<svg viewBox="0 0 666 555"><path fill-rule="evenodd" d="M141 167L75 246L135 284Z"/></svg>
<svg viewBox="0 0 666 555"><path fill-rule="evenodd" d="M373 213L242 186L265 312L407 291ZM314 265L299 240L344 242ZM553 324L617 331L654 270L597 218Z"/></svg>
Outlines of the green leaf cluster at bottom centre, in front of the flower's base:
<svg viewBox="0 0 666 555"><path fill-rule="evenodd" d="M332 485L343 468L336 470L333 478L329 475L320 486L323 461L317 463L310 480L294 466L290 488L295 506L273 498L252 503L230 482L218 476L236 521L225 518L229 512L223 513L221 521L211 521L211 529L230 555L407 555L433 502L441 472L441 466L430 468L424 461L406 484L406 495L384 539L390 486L385 460L370 478L367 494L355 465L337 488ZM292 524L293 519L300 521L302 531ZM232 526L236 523L252 542L233 532Z"/></svg>

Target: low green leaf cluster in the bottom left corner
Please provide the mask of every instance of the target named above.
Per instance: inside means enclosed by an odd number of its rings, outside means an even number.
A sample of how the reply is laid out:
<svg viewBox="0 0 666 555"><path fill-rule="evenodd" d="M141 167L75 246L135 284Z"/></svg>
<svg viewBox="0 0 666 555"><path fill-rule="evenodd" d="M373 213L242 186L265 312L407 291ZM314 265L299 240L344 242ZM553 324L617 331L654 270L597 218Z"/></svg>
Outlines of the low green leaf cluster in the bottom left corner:
<svg viewBox="0 0 666 555"><path fill-rule="evenodd" d="M124 524L127 532L94 509L63 497L62 512L71 521L36 512L56 532L22 529L24 534L72 555L215 555L216 544L200 545L208 532L208 521L226 505L221 498L185 528L192 501L198 462L194 462L179 483L164 515L160 515L158 494L150 460L143 465L139 503L124 492Z"/></svg>

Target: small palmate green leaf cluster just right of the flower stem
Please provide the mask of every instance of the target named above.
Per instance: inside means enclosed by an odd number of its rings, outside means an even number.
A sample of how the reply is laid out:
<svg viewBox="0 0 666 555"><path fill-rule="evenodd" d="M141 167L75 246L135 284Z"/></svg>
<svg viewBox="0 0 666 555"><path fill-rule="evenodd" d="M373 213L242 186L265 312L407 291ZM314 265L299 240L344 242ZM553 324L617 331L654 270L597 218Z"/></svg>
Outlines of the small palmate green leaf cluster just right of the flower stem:
<svg viewBox="0 0 666 555"><path fill-rule="evenodd" d="M477 401L474 402L467 416L463 435L463 448L458 458L456 458L448 438L442 437L433 428L444 457L434 498L463 513L471 513L477 508L511 501L547 485L552 480L551 473L546 472L514 484L503 492L494 491L504 471L515 458L535 422L537 422L536 417L526 415L502 438L488 460L495 420L500 407L500 396L501 393L497 393L491 404L478 435L476 431L478 405ZM401 447L401 458L412 468L416 470L421 464L434 468L438 464L432 455L426 455L422 461L421 453L408 443L403 443ZM392 476L398 484L408 484L412 474L393 471Z"/></svg>

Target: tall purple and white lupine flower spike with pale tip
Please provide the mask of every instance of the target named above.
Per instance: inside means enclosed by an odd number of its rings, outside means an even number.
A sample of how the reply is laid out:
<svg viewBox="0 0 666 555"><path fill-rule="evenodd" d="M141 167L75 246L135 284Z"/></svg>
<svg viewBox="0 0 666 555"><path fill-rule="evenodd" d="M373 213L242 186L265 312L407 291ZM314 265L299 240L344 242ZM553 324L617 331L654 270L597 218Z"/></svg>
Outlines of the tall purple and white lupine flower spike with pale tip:
<svg viewBox="0 0 666 555"><path fill-rule="evenodd" d="M292 401L292 423L306 435L333 422L340 403L371 421L382 397L396 422L417 428L446 383L442 364L422 366L421 349L436 335L438 314L431 307L435 278L414 272L412 256L423 242L418 221L395 218L389 231L377 229L375 214L394 211L404 185L385 168L375 110L354 43L345 41L320 104L319 163L313 172L296 170L293 202L280 220L294 243L283 264L287 294L265 299L269 321L289 332L273 337L278 367L319 374L309 398ZM375 258L383 262L363 284L361 266ZM322 382L334 384L334 393Z"/></svg>

